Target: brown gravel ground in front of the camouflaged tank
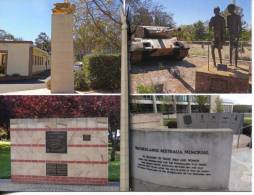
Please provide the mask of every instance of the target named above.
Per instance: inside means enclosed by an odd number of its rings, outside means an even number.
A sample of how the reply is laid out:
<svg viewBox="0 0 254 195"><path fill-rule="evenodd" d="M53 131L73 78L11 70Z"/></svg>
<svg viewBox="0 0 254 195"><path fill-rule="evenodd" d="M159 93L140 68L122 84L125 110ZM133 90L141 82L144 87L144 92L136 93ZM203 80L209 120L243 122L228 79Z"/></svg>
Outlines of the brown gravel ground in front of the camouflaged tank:
<svg viewBox="0 0 254 195"><path fill-rule="evenodd" d="M240 61L239 66L248 71L250 63ZM136 94L139 85L156 86L163 84L162 93L193 93L195 92L196 70L207 65L207 58L192 56L181 62L154 60L132 66L131 92ZM210 66L212 66L211 61ZM174 76L175 72L180 75L180 78Z"/></svg>

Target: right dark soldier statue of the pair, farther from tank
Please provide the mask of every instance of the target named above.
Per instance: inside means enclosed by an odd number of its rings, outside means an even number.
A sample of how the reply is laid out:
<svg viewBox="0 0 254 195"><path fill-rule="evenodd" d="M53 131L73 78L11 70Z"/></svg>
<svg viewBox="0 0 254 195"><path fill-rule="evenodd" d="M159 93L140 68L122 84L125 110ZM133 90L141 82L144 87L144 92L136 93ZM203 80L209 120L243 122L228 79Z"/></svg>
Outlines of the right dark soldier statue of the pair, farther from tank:
<svg viewBox="0 0 254 195"><path fill-rule="evenodd" d="M241 33L241 16L237 15L235 13L236 6L234 4L230 4L228 6L228 12L230 15L227 17L227 27L229 31L229 42L230 42L230 64L233 64L233 56L234 56L234 62L235 67L237 67L237 61L238 61L238 43Z"/></svg>

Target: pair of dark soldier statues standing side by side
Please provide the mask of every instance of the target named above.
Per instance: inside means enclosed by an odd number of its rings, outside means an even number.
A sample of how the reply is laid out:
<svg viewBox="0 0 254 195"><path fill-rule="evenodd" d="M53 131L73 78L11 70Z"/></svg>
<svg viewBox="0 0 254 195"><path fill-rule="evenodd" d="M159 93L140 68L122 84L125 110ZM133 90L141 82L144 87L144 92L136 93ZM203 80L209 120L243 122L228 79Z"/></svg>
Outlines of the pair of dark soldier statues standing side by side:
<svg viewBox="0 0 254 195"><path fill-rule="evenodd" d="M234 65L237 67L238 61L238 42L241 33L241 17L236 14L236 6L234 4L230 4L228 7L229 15L227 17L227 28L229 32L229 43L230 43L230 65L233 65L233 57L234 57ZM224 44L224 33L226 28L225 19L220 15L220 8L216 7L214 9L215 16L211 18L209 23L209 29L213 30L214 38L212 42L212 58L214 62L214 66L216 67L216 59L215 59L215 48L218 49L220 63L222 64L222 55L221 50Z"/></svg>

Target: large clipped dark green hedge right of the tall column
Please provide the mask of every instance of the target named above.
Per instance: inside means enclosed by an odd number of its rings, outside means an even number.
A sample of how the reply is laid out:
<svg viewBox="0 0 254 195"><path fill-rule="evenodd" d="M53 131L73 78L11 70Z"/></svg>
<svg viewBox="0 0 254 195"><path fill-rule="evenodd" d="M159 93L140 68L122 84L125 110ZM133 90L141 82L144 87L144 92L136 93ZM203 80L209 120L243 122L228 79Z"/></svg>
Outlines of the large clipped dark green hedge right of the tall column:
<svg viewBox="0 0 254 195"><path fill-rule="evenodd" d="M119 90L121 80L120 55L89 55L84 58L86 83L92 89Z"/></svg>

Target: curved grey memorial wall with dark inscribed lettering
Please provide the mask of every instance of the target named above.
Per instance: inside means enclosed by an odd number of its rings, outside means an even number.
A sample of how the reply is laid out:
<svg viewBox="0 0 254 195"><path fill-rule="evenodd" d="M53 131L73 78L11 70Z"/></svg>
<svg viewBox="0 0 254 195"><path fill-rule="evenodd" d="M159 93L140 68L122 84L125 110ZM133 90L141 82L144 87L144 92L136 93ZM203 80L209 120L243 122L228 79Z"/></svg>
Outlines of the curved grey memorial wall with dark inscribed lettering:
<svg viewBox="0 0 254 195"><path fill-rule="evenodd" d="M232 130L145 128L133 129L131 138L134 191L160 191L156 186L228 188ZM154 189L151 183L155 184Z"/></svg>

